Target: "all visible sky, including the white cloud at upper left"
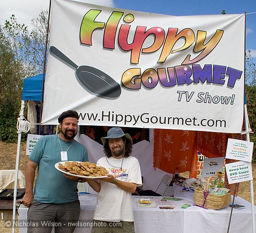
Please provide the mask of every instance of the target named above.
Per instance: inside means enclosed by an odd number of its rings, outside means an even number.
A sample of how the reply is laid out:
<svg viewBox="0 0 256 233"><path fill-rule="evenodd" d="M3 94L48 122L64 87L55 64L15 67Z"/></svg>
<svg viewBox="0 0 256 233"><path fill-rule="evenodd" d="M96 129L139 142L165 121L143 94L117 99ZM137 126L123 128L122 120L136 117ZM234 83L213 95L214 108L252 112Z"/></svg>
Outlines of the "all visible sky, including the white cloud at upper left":
<svg viewBox="0 0 256 233"><path fill-rule="evenodd" d="M53 1L53 0L52 0ZM79 0L74 0L79 1ZM227 14L248 13L246 17L246 50L256 62L256 1L232 0L232 1L172 1L172 0L80 0L97 5L131 9L136 11L170 14L173 16L221 14L225 10ZM41 9L48 9L49 0L1 0L0 23L4 24L12 13L18 22L31 25L31 19L38 17ZM252 13L254 12L254 13Z"/></svg>

